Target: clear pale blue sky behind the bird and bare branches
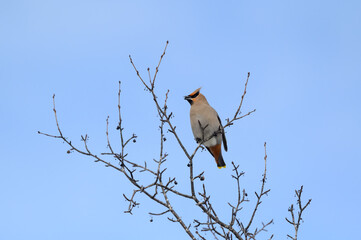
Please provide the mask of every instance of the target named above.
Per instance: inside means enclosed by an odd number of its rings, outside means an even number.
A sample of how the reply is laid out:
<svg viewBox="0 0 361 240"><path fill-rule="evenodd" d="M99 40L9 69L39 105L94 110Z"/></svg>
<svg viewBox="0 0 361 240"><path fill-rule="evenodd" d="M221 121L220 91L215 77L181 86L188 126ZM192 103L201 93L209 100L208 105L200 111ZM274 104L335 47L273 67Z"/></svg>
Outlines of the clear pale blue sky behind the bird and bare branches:
<svg viewBox="0 0 361 240"><path fill-rule="evenodd" d="M124 214L132 187L115 170L75 153L56 134L52 95L63 133L81 147L90 135L106 151L105 120L118 143L117 88L122 81L125 134L139 137L129 158L158 156L158 120L128 55L141 73L158 63L157 93L169 107L187 149L196 144L183 96L202 93L222 119L234 114L251 72L243 112L257 111L227 129L225 170L207 152L196 159L222 217L236 200L230 162L246 172L251 203L260 187L268 143L269 196L255 224L274 219L268 233L286 239L285 222L304 185L299 239L357 239L361 194L360 1L1 1L0 2L0 239L187 239L143 196ZM187 160L167 135L168 176L189 191ZM183 219L200 215L192 202L171 198ZM210 235L207 237L211 238Z"/></svg>

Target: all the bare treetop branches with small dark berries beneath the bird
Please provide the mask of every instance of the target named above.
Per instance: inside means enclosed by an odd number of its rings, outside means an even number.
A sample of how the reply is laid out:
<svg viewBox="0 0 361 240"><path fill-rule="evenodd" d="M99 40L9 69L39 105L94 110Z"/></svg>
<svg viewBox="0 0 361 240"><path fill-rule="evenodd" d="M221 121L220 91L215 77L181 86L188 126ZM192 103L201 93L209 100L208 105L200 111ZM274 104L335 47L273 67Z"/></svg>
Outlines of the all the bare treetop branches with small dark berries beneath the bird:
<svg viewBox="0 0 361 240"><path fill-rule="evenodd" d="M200 181L204 181L205 172L203 171L203 172L199 173L198 175L195 175L193 164L195 163L194 158L195 158L195 155L198 152L198 150L204 149L203 144L205 142L209 141L215 135L221 133L223 131L223 129L220 127L219 132L217 131L213 135L206 137L205 129L208 127L208 125L202 126L201 123L198 122L199 126L202 130L202 139L197 139L197 146L195 147L195 149L193 151L188 151L185 148L184 144L182 143L182 141L176 131L176 126L172 123L172 118L174 117L174 114L173 114L173 112L169 112L169 110L168 110L167 101L168 101L168 97L169 97L169 90L165 94L164 103L159 100L159 98L155 92L155 89L156 89L155 83L156 83L157 74L159 72L160 64L165 56L168 43L169 42L167 41L167 43L164 47L163 53L160 56L158 65L155 68L153 77L151 76L151 70L149 68L147 69L149 82L148 81L145 82L143 80L141 74L139 73L136 65L133 62L132 57L129 55L130 63L132 64L138 78L140 79L140 82L144 85L145 89L152 96L152 100L155 104L155 108L156 108L156 111L157 111L157 114L159 117L160 148L159 148L159 158L157 157L157 159L153 159L154 162L156 163L155 167L152 167L151 165L149 166L149 164L147 164L147 161L144 159L142 159L140 162L138 162L138 161L131 160L129 157L127 157L128 153L126 152L126 149L127 149L126 147L130 142L135 143L137 136L135 134L132 134L131 136L127 137L123 132L124 128L123 128L123 119L122 119L122 115L121 115L121 104L120 104L120 94L121 94L121 82L120 81L119 81L118 105L117 105L118 115L119 115L117 130L119 131L120 146L119 146L119 144L111 145L111 140L109 137L109 116L108 116L106 119L106 137L107 137L107 148L109 148L109 151L101 153L101 155L103 155L104 157L106 157L106 156L113 157L113 160L117 161L117 163L119 163L120 167L116 166L115 164L113 164L109 161L106 161L103 158L98 157L96 154L93 154L88 147L88 135L81 136L81 139L84 143L83 148L85 148L85 150L81 150L78 147L75 147L70 140L67 140L67 138L63 135L63 133L60 129L60 126L59 126L57 112L55 109L55 95L53 96L53 106L54 106L53 111L54 111L56 125L57 125L59 135L47 134L47 133L43 133L40 131L38 133L41 135L47 136L47 137L52 137L52 138L57 138L57 139L63 140L70 147L70 150L68 150L68 153L76 151L82 155L86 155L86 156L93 158L95 162L101 162L106 167L111 167L111 168L121 172L125 176L125 179L127 179L134 186L133 193L130 197L127 197L125 194L123 194L125 200L129 202L128 208L125 211L125 213L132 214L134 207L139 206L140 203L135 200L136 196L138 196L137 194L139 193L140 195L144 194L148 198L152 199L153 201L155 201L156 203L158 203L164 207L164 209L161 210L162 212L160 212L160 213L149 212L150 215L163 216L163 215L171 214L170 216L167 216L167 219L171 222L179 223L191 239L195 240L196 236L203 240L206 239L204 236L202 236L200 234L200 232L198 231L198 227L202 228L201 229L202 232L210 232L213 235L214 239L219 239L219 238L221 238L221 239L236 238L236 239L241 239L241 240L256 239L256 236L259 233L261 233L263 231L267 231L267 227L273 223L273 220L270 220L266 223L262 223L262 226L255 228L252 231L250 230L251 226L254 222L255 215L259 210L259 205L262 203L262 201L261 201L262 197L264 195L267 195L267 193L270 191L269 189L268 190L265 189L265 183L267 180L267 177L266 177L266 173L267 173L266 143L264 144L265 165L264 165L264 173L262 175L261 189L259 192L255 192L257 202L253 208L252 215L251 215L249 221L247 222L247 224L244 224L240 221L240 219L238 217L240 211L244 207L243 203L248 202L249 200L247 198L248 195L247 195L245 189L241 189L241 184L240 184L240 178L241 178L241 176L244 175L244 172L240 171L239 165L235 165L234 162L232 162L232 165L233 165L232 178L234 178L236 180L237 197L236 197L235 203L233 203L233 204L228 203L229 206L231 207L231 213L232 213L230 220L228 219L229 222L222 220L221 214L218 216L217 209L215 209L212 205L213 199L211 198L211 195L209 193L207 193L206 185L202 184L202 189L200 191L199 190L197 191L195 181L197 181L197 179L199 179ZM235 112L233 118L231 120L227 119L227 123L226 123L226 125L224 125L224 128L233 125L237 120L240 120L246 116L249 116L250 114L252 114L256 111L256 109L254 109L243 115L241 112L244 97L247 93L247 85L248 85L249 77L250 77L250 73L248 73L248 75L247 75L247 80L246 80L246 83L244 86L244 91L241 96L241 100L238 105L238 108L236 109L236 112ZM172 177L172 176L167 176L168 175L166 172L167 168L165 167L166 166L165 164L169 158L168 153L165 152L165 141L166 141L165 134L167 131L169 133L171 133L172 136L174 136L174 138L176 139L178 145L180 146L180 148L182 149L182 151L186 157L187 166L189 167L188 179L189 179L190 193L183 193L183 192L180 192L179 190L177 190L176 178ZM192 153L192 154L190 154L190 153ZM154 179L152 179L151 181L145 182L140 177L140 176L145 176L144 174L148 174L148 175L152 176ZM179 196L184 199L190 199L190 201L193 204L195 204L195 206L198 207L202 213L204 213L203 220L194 219L195 224L193 226L194 227L193 230L191 230L192 225L189 224L187 226L186 222L182 219L178 210L173 207L172 202L171 202L172 198L169 198L169 196L168 196L169 193L175 194L176 196ZM295 237L291 237L288 235L292 239L297 239L297 232L298 232L298 228L300 225L300 221L302 219L301 214L302 214L303 210L311 202L311 200L309 200L305 206L302 206L301 194L302 194L302 187L299 191L296 191L296 195L298 197L297 204L300 209L298 218L296 219L295 214L293 212L293 210L294 210L293 205L291 205L291 207L289 209L289 211L291 213L292 221L286 218L286 221L295 227ZM153 218L151 219L151 221L152 220L153 220ZM273 235L271 235L271 237L269 239L272 239L272 238L273 238Z"/></svg>

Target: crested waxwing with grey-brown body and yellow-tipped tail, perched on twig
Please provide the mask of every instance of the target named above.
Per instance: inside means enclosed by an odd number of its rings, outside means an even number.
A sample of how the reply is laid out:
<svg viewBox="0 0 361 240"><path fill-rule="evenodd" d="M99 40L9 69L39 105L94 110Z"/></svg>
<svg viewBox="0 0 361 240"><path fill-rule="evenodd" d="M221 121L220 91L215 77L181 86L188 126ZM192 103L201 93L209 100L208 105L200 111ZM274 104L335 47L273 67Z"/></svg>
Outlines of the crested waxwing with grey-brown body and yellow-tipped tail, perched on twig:
<svg viewBox="0 0 361 240"><path fill-rule="evenodd" d="M200 93L201 88L184 97L191 105L190 121L192 132L197 143L202 143L214 157L219 169L225 168L222 156L222 142L227 151L227 140L221 119L216 110L208 103L206 97Z"/></svg>

